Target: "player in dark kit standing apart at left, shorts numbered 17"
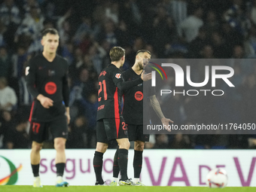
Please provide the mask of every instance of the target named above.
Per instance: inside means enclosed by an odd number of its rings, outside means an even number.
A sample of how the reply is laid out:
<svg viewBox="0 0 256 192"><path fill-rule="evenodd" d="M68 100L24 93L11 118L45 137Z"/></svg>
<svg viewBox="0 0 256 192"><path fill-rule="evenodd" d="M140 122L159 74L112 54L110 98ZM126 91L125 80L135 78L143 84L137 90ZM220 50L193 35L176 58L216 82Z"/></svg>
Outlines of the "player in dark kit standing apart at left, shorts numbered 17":
<svg viewBox="0 0 256 192"><path fill-rule="evenodd" d="M40 151L44 140L48 139L50 129L56 149L56 187L68 187L69 184L62 179L70 120L68 62L56 54L59 45L56 29L45 29L41 44L44 47L43 53L32 58L26 68L26 85L35 99L29 117L32 138L30 159L35 177L33 186L42 187L39 178Z"/></svg>

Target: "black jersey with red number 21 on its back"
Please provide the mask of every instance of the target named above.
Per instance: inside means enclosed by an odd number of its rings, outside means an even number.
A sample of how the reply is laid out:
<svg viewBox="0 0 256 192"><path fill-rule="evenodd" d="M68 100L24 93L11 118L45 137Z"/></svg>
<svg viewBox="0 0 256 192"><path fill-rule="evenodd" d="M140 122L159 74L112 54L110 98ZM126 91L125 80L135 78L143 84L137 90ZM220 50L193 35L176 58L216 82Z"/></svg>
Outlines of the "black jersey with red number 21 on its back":
<svg viewBox="0 0 256 192"><path fill-rule="evenodd" d="M138 84L142 84L142 82L142 78L124 82L122 72L113 64L103 69L99 75L97 120L120 118L122 92Z"/></svg>

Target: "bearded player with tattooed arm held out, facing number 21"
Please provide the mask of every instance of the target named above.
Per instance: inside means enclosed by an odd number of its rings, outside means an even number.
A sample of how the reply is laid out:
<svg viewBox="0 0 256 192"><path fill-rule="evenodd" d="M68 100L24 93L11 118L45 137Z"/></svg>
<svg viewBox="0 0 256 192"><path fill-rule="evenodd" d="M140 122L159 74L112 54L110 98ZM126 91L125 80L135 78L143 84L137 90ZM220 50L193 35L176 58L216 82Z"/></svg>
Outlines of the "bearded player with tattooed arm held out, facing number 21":
<svg viewBox="0 0 256 192"><path fill-rule="evenodd" d="M124 81L134 81L140 77L145 66L148 65L148 60L151 59L151 53L148 50L138 50L136 53L136 61L131 69L127 69L123 72ZM143 87L145 87L143 92ZM145 93L146 92L146 93ZM143 116L149 117L150 115L143 115L143 99L149 99L152 108L160 118L162 123L166 126L169 123L173 123L172 120L164 117L163 112L160 108L160 104L155 96L155 89L151 87L151 82L147 81L136 87L132 87L130 90L123 92L123 118L126 122L129 141L134 141L134 158L133 158L133 169L134 169L134 183L136 185L144 185L139 181L139 175L142 171L142 153L144 150L145 142L149 141L149 135L143 134ZM148 102L149 102L148 101ZM144 106L147 107L148 105ZM117 161L118 149L114 154L113 164L113 181L111 186L116 186L118 181L119 166Z"/></svg>

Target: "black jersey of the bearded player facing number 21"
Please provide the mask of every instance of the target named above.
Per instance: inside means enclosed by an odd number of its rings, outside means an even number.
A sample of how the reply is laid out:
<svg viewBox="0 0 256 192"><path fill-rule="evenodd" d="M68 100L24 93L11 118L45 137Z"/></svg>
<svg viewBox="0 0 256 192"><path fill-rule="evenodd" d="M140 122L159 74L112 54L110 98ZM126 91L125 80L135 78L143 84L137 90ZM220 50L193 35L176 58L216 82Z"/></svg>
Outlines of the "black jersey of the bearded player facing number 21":
<svg viewBox="0 0 256 192"><path fill-rule="evenodd" d="M123 72L124 81L134 81L138 79L140 75L137 75L133 69L127 69ZM144 87L144 88L143 88ZM144 89L144 91L143 91ZM156 91L154 87L151 87L151 81L144 81L143 84L132 87L130 90L123 92L123 119L127 124L142 125L143 124L143 99L149 100L149 96L154 96ZM148 101L149 102L149 101ZM145 105L145 108L148 108ZM144 111L148 111L145 109ZM149 115L149 113L148 113Z"/></svg>

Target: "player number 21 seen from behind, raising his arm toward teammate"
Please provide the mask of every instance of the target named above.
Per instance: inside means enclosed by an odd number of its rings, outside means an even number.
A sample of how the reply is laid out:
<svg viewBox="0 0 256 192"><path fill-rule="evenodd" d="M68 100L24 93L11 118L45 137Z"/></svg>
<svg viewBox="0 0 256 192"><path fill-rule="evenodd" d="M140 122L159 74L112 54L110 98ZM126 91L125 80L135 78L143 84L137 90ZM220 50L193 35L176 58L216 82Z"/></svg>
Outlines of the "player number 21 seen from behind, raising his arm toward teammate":
<svg viewBox="0 0 256 192"><path fill-rule="evenodd" d="M116 140L118 149L118 165L120 168L120 185L133 185L127 176L128 149L130 142L127 136L126 123L121 116L121 96L128 90L143 81L151 79L151 74L140 75L134 81L124 82L120 67L125 60L125 50L122 47L113 47L110 50L111 64L99 75L99 107L97 111L96 136L97 145L93 158L93 167L96 174L96 185L105 184L102 179L102 158L108 148L108 142Z"/></svg>

